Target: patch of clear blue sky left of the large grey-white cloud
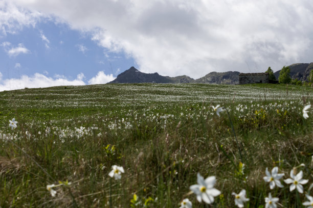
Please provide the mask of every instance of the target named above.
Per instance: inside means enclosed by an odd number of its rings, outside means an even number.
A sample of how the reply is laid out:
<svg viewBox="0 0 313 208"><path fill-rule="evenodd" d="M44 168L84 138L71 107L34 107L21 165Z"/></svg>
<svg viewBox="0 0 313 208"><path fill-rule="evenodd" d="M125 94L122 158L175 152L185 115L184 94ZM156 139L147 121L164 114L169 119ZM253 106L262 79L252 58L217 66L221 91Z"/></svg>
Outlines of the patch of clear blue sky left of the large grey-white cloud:
<svg viewBox="0 0 313 208"><path fill-rule="evenodd" d="M64 23L44 21L35 27L25 27L15 34L0 37L0 69L2 79L18 79L21 75L41 73L46 76L64 76L74 80L84 74L84 81L99 71L116 77L121 70L135 66L135 61L121 53L110 53L91 39L88 33L71 30ZM27 51L10 55L8 50L21 45Z"/></svg>

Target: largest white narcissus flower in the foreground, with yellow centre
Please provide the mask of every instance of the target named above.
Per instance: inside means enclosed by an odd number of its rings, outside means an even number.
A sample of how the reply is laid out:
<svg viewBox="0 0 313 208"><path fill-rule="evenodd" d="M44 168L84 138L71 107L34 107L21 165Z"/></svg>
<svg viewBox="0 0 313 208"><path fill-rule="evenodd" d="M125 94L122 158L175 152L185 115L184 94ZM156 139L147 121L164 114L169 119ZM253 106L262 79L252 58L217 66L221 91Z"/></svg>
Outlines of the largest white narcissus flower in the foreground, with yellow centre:
<svg viewBox="0 0 313 208"><path fill-rule="evenodd" d="M202 200L208 204L214 202L214 197L220 194L220 191L213 188L216 183L215 176L210 176L204 179L197 173L197 183L196 185L192 185L189 189L193 191L197 195L197 200L202 202Z"/></svg>

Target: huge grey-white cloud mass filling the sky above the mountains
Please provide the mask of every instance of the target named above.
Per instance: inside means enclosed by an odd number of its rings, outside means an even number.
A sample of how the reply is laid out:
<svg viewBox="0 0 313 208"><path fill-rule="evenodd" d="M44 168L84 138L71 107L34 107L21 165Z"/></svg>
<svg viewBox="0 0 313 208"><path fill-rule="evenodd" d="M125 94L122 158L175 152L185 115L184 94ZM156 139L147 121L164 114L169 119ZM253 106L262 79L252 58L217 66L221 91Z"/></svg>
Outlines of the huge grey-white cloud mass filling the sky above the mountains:
<svg viewBox="0 0 313 208"><path fill-rule="evenodd" d="M247 64L257 72L312 62L311 0L10 2L27 8L18 11L28 16L53 14L72 29L91 32L108 51L133 57L143 72L197 78L211 71L249 72Z"/></svg>

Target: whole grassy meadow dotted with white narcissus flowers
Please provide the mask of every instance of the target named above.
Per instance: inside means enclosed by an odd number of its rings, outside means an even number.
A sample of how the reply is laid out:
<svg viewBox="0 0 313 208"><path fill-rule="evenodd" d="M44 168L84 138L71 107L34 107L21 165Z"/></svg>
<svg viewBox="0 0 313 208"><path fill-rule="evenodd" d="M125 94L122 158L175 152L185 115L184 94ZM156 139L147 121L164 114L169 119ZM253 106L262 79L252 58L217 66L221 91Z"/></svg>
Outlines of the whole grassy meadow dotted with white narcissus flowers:
<svg viewBox="0 0 313 208"><path fill-rule="evenodd" d="M313 207L312 89L0 92L0 207Z"/></svg>

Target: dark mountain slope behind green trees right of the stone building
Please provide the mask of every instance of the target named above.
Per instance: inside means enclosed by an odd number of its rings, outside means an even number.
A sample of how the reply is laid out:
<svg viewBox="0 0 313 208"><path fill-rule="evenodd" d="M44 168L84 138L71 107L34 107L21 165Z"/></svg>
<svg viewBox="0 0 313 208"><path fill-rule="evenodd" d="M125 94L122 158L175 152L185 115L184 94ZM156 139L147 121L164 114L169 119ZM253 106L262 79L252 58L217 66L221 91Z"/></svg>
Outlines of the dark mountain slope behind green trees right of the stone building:
<svg viewBox="0 0 313 208"><path fill-rule="evenodd" d="M300 81L308 81L308 76L311 72L311 69L313 69L313 63L305 64L305 63L299 63L299 64L292 64L289 66L290 68L290 76L292 79L298 79ZM274 73L276 79L278 80L279 71L276 71Z"/></svg>

